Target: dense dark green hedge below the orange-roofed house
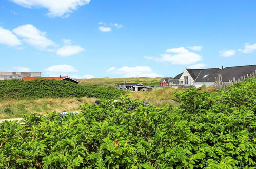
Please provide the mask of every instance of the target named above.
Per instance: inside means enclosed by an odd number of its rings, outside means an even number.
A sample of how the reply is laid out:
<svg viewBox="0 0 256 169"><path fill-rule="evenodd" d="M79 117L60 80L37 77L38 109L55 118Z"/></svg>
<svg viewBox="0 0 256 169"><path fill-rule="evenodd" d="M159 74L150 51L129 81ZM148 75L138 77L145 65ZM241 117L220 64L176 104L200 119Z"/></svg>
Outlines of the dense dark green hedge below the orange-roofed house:
<svg viewBox="0 0 256 169"><path fill-rule="evenodd" d="M36 79L21 81L17 79L0 81L0 98L46 98L46 97L96 97L112 99L124 91L108 88L76 85L69 81Z"/></svg>

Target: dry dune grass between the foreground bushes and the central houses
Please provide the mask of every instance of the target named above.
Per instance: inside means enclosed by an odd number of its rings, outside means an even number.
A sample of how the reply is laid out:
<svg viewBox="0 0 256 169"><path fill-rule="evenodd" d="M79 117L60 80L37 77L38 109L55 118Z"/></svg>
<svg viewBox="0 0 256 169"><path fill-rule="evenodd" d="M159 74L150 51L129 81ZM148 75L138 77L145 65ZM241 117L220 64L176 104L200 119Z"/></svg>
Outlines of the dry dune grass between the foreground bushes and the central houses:
<svg viewBox="0 0 256 169"><path fill-rule="evenodd" d="M157 88L157 90L153 89L151 92L127 92L131 99L145 99L148 103L154 104L156 106L162 107L165 104L176 105L175 101L171 99L175 98L175 93L187 90L188 88L178 88L175 89L173 87L165 87L165 88ZM203 87L200 92L213 92L215 90L214 86Z"/></svg>

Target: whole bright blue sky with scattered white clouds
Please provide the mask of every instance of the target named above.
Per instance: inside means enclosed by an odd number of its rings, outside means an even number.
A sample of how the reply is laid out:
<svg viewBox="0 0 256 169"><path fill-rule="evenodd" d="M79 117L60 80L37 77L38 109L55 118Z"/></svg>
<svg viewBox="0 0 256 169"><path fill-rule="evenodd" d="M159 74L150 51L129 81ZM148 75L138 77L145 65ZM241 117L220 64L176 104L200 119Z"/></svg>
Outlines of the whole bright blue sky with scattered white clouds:
<svg viewBox="0 0 256 169"><path fill-rule="evenodd" d="M2 0L0 71L174 77L256 64L256 1Z"/></svg>

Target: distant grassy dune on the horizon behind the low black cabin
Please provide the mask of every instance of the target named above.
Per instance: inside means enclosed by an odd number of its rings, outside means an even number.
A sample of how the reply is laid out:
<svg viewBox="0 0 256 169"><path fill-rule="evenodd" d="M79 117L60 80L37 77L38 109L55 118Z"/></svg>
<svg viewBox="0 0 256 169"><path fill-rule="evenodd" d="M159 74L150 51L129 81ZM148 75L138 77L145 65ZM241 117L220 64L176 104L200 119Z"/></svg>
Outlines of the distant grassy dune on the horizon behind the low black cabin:
<svg viewBox="0 0 256 169"><path fill-rule="evenodd" d="M92 79L80 79L79 81L82 85L95 85L101 87L114 87L118 83L143 83L147 86L159 86L161 77L157 78L148 78L148 77L139 77L139 78L92 78Z"/></svg>

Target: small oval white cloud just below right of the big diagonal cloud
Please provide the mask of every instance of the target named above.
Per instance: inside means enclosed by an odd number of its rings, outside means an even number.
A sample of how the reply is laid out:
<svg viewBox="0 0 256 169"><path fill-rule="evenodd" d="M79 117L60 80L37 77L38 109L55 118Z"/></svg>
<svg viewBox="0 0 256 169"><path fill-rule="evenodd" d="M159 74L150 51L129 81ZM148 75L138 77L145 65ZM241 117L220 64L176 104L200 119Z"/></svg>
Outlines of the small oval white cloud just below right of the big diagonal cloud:
<svg viewBox="0 0 256 169"><path fill-rule="evenodd" d="M59 56L71 56L78 54L84 50L84 48L78 45L64 45L56 51L56 54Z"/></svg>

